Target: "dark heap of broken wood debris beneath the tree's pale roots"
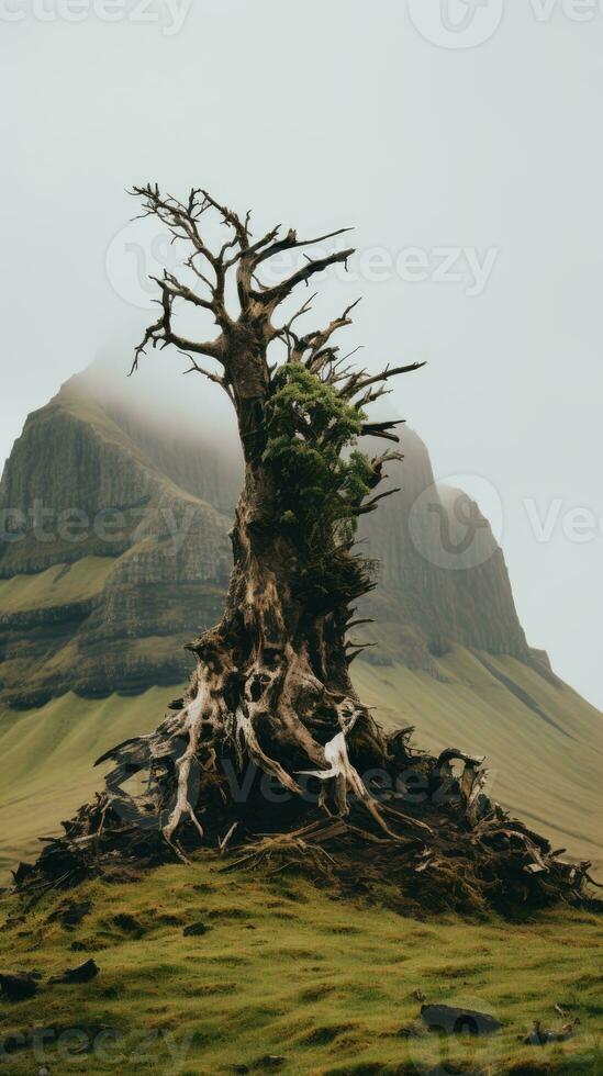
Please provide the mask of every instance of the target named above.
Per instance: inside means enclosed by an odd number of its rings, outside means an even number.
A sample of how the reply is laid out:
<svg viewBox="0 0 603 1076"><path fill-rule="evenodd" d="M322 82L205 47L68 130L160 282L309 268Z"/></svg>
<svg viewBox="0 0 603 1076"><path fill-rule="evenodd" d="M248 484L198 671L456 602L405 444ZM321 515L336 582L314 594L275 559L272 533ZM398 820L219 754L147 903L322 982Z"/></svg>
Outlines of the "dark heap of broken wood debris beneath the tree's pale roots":
<svg viewBox="0 0 603 1076"><path fill-rule="evenodd" d="M389 772L366 778L369 800L350 797L343 817L330 810L327 782L315 776L308 783L316 784L314 797L281 795L278 806L267 800L259 771L239 802L226 794L224 777L203 809L202 843L192 825L177 845L167 842L157 804L145 794L127 797L109 781L108 792L63 823L64 836L44 840L35 865L20 864L15 886L34 900L90 877L120 879L212 849L225 866L301 868L356 892L387 883L388 899L394 893L409 909L513 912L588 895L590 864L566 861L563 850L511 819L485 794L482 759L418 752L412 731L388 738Z"/></svg>

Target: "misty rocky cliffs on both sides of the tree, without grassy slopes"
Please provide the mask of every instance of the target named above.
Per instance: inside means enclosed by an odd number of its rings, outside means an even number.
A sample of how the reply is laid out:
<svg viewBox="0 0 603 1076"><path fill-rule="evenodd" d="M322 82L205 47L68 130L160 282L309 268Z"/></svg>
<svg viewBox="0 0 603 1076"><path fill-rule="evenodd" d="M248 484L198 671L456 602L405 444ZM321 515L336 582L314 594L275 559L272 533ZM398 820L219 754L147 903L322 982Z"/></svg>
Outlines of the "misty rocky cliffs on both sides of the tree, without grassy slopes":
<svg viewBox="0 0 603 1076"><path fill-rule="evenodd" d="M1 700L181 682L183 643L219 619L230 573L241 464L212 444L202 422L145 422L86 374L27 418L0 484ZM438 675L434 658L460 642L531 660L487 522L434 486L412 431L403 450L403 490L361 536L379 561L367 659Z"/></svg>

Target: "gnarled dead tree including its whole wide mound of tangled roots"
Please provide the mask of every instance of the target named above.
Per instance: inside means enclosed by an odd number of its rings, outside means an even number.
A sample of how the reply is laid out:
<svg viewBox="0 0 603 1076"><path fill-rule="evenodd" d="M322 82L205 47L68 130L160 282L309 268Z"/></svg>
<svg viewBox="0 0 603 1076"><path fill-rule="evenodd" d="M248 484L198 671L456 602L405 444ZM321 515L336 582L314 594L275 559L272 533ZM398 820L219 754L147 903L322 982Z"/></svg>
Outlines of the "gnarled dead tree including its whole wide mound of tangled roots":
<svg viewBox="0 0 603 1076"><path fill-rule="evenodd" d="M245 462L234 567L222 620L189 646L197 666L185 697L154 733L99 760L114 764L107 793L63 823L64 837L47 839L35 866L21 864L18 887L40 894L124 859L186 859L204 843L222 853L236 847L252 863L301 854L316 870L343 850L353 877L384 872L434 906L581 894L590 864L566 863L510 820L483 792L483 760L416 752L412 729L386 737L353 686L349 666L362 648L347 636L365 623L355 620L355 603L375 585L371 563L355 549L356 526L397 492L378 487L386 466L402 458L395 448L369 457L357 442L398 442L399 423L371 422L366 408L420 363L379 373L350 363L335 334L355 304L323 328L299 328L311 300L279 318L299 287L347 262L351 248L308 254L347 229L304 240L275 227L255 238L249 214L242 220L206 191L192 190L186 203L157 187L133 193L188 254L180 278L167 270L155 278L160 313L133 370L149 347L172 348L190 360L187 372L228 394ZM226 232L217 248L206 240L211 215ZM263 282L283 251L301 251L300 267ZM213 338L182 335L186 310L210 315ZM235 803L228 766L269 775L287 806L252 793ZM392 789L384 797L369 786L371 767ZM409 769L425 788L410 806L395 783ZM145 777L137 797L124 788L133 775ZM308 780L320 789L311 808L301 787Z"/></svg>

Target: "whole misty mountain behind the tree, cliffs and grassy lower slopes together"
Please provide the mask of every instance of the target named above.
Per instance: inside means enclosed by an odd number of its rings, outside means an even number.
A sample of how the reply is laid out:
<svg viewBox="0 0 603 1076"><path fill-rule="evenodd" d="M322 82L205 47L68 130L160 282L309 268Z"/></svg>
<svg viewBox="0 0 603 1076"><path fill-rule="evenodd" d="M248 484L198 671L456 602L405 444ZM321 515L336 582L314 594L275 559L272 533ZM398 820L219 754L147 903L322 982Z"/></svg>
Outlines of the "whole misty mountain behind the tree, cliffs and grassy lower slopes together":
<svg viewBox="0 0 603 1076"><path fill-rule="evenodd" d="M169 412L169 407L167 407ZM0 483L0 865L99 784L92 763L152 729L215 623L241 482L232 428L152 418L104 371L30 415ZM362 697L418 742L484 753L495 796L603 860L603 718L532 650L479 507L440 489L410 429L401 492L367 517L378 585L353 637ZM125 698L124 696L131 696ZM26 810L23 810L26 805Z"/></svg>

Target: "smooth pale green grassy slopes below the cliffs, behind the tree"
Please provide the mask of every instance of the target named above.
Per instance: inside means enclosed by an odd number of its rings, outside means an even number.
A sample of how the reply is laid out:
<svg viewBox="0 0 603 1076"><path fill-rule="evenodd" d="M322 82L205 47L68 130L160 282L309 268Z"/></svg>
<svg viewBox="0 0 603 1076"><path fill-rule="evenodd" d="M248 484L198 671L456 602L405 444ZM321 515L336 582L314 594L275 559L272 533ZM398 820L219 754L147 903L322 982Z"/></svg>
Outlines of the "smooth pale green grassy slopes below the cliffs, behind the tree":
<svg viewBox="0 0 603 1076"><path fill-rule="evenodd" d="M360 661L356 683L383 725L416 725L417 747L488 755L495 799L603 868L601 715L514 658L455 647L434 661L437 675ZM101 787L94 760L155 728L172 695L160 687L96 700L71 693L38 709L0 710L0 877Z"/></svg>

